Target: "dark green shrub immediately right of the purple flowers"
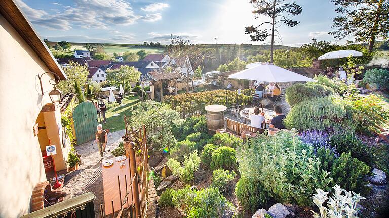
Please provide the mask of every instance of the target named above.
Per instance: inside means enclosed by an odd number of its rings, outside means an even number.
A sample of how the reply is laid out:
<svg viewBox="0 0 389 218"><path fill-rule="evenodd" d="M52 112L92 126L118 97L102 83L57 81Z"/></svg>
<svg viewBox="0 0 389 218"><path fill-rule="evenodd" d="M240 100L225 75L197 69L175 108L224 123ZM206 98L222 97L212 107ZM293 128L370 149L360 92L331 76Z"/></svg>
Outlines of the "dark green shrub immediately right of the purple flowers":
<svg viewBox="0 0 389 218"><path fill-rule="evenodd" d="M372 153L372 149L359 139L355 133L352 132L340 132L335 133L330 137L331 146L335 146L339 154L351 153L353 158L357 158L370 165L374 162L375 157ZM343 187L343 186L342 186Z"/></svg>

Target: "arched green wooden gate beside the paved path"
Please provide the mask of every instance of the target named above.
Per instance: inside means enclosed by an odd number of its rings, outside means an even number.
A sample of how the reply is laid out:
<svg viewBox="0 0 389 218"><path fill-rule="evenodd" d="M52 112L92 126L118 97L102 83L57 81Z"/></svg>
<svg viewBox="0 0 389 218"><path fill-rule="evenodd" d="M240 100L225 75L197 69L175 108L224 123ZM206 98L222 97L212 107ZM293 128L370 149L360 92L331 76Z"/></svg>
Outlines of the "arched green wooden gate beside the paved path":
<svg viewBox="0 0 389 218"><path fill-rule="evenodd" d="M90 102L82 102L73 111L73 122L77 144L81 145L95 139L97 126L97 111Z"/></svg>

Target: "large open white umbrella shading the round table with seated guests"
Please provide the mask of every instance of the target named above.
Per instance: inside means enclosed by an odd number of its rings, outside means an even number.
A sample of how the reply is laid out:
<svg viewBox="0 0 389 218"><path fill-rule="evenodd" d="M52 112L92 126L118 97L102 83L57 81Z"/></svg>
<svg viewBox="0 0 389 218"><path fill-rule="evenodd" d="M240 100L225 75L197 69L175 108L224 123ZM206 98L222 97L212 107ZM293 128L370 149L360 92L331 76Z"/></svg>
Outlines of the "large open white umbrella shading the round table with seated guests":
<svg viewBox="0 0 389 218"><path fill-rule="evenodd" d="M254 62L246 65L248 69L231 74L231 79L247 79L266 82L313 82L315 80L301 74L284 69L273 63ZM263 104L262 104L263 111Z"/></svg>

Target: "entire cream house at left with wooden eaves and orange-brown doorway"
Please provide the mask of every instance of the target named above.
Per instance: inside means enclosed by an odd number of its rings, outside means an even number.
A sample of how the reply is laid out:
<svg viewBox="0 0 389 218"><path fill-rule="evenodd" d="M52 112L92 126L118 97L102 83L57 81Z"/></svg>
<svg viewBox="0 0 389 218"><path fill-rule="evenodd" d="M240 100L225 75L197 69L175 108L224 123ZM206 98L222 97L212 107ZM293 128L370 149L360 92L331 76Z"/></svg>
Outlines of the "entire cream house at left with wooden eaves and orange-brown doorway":
<svg viewBox="0 0 389 218"><path fill-rule="evenodd" d="M61 95L52 85L67 77L15 1L0 0L0 36L0 217L14 218L38 206L33 189L50 179L46 146L56 148L57 171L67 168Z"/></svg>

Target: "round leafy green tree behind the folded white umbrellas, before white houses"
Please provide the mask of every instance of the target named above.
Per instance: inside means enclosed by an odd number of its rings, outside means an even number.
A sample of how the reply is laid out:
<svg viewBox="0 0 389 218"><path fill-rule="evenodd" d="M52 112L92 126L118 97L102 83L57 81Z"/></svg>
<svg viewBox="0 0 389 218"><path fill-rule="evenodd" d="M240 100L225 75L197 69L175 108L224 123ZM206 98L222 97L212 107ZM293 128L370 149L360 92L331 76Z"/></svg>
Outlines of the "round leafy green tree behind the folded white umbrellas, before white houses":
<svg viewBox="0 0 389 218"><path fill-rule="evenodd" d="M110 84L115 86L120 86L123 84L126 86L130 85L132 82L138 82L141 73L137 71L133 66L122 65L118 69L107 70L106 79L110 82Z"/></svg>

